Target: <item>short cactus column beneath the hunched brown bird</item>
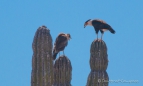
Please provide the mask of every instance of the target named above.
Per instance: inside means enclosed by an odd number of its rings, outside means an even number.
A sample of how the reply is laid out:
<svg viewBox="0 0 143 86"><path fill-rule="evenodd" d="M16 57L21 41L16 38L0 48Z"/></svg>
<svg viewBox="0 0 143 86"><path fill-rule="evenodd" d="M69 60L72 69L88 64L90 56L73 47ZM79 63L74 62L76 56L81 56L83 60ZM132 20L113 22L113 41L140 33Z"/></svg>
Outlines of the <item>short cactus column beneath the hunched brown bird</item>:
<svg viewBox="0 0 143 86"><path fill-rule="evenodd" d="M71 86L72 66L66 56L60 56L54 64L54 86Z"/></svg>

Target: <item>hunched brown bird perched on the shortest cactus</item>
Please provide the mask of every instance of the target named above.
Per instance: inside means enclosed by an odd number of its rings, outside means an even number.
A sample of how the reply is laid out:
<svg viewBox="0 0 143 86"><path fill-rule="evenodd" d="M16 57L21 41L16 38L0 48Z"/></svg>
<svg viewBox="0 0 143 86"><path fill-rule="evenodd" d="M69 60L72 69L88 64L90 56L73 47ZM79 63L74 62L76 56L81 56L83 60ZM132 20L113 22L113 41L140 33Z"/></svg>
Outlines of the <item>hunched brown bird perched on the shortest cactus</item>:
<svg viewBox="0 0 143 86"><path fill-rule="evenodd" d="M64 55L64 49L65 47L68 45L68 41L71 39L71 35L70 34L66 34L66 33L60 33L54 43L54 49L53 49L53 60L56 59L57 54L60 51L63 51L63 55ZM59 54L60 55L60 54Z"/></svg>

